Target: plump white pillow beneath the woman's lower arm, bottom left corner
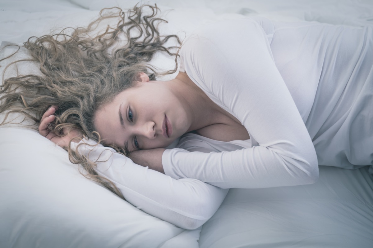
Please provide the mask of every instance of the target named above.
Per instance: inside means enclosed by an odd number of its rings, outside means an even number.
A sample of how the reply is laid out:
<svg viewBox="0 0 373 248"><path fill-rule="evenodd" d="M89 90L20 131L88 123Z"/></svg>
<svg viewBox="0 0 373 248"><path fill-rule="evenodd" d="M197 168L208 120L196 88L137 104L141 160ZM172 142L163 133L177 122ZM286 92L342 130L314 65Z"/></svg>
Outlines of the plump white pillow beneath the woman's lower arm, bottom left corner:
<svg viewBox="0 0 373 248"><path fill-rule="evenodd" d="M200 229L184 231L84 178L38 132L4 127L0 137L2 247L198 247Z"/></svg>

